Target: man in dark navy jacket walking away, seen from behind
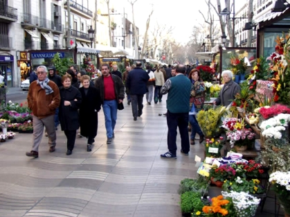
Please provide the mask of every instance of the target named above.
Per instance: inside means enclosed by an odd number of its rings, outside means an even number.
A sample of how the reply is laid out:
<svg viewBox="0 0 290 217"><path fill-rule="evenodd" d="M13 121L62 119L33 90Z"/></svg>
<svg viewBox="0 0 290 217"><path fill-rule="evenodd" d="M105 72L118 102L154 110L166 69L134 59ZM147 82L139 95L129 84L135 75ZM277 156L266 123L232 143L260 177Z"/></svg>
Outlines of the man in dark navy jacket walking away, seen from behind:
<svg viewBox="0 0 290 217"><path fill-rule="evenodd" d="M142 115L143 96L147 92L148 80L148 73L142 69L142 63L136 62L136 68L129 71L126 81L126 87L130 92L134 121L137 121L137 115Z"/></svg>

